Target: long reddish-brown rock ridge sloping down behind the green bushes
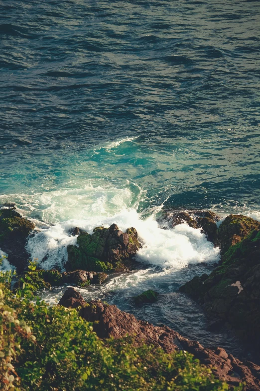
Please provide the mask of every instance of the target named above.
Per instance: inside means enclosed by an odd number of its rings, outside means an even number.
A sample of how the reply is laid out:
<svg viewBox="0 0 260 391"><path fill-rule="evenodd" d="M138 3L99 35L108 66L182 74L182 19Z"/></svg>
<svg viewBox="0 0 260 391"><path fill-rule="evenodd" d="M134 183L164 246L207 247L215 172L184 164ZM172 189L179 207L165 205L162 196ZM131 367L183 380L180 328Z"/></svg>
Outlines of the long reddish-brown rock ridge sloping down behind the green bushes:
<svg viewBox="0 0 260 391"><path fill-rule="evenodd" d="M62 298L59 304L70 307L68 297L71 295L74 298L76 293L66 291L64 294L66 300ZM254 363L243 363L220 347L205 349L199 342L188 340L167 326L153 326L148 322L139 321L133 315L120 311L114 305L110 306L95 300L85 303L82 297L77 296L77 298L77 303L83 303L82 308L79 309L79 315L93 323L93 329L99 338L119 339L131 335L136 346L145 343L161 347L168 353L185 350L193 354L202 364L210 367L214 375L225 380L231 389L241 382L246 382L245 391L260 390L260 367Z"/></svg>

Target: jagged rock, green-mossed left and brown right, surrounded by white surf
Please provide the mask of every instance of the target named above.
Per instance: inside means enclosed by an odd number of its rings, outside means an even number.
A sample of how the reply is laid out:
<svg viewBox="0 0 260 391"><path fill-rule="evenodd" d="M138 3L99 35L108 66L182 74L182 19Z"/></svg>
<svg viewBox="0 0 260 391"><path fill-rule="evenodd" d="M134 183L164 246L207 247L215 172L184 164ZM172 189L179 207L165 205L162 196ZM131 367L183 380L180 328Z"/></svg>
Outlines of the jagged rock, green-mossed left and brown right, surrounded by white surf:
<svg viewBox="0 0 260 391"><path fill-rule="evenodd" d="M128 228L126 233L116 224L109 228L97 227L92 235L81 231L77 246L68 246L67 271L87 269L95 272L126 270L130 260L140 248L137 232Z"/></svg>

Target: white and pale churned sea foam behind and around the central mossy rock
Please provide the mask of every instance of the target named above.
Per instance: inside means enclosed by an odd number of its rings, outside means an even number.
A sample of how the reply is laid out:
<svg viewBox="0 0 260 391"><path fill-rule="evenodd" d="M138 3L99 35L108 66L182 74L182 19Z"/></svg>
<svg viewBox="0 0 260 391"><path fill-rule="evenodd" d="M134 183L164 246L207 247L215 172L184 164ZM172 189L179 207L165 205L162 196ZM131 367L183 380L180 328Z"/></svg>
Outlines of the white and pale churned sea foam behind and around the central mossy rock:
<svg viewBox="0 0 260 391"><path fill-rule="evenodd" d="M199 229L186 224L162 229L155 220L155 213L142 219L136 205L131 205L133 198L128 188L93 186L38 195L45 204L45 209L41 206L44 220L48 224L56 223L42 227L38 224L38 233L29 239L27 246L32 259L38 259L46 269L62 268L67 260L68 244L76 244L76 237L69 233L71 229L77 226L91 234L97 226L109 227L117 223L123 231L136 228L143 243L136 257L141 262L179 269L189 263L218 261L219 250Z"/></svg>

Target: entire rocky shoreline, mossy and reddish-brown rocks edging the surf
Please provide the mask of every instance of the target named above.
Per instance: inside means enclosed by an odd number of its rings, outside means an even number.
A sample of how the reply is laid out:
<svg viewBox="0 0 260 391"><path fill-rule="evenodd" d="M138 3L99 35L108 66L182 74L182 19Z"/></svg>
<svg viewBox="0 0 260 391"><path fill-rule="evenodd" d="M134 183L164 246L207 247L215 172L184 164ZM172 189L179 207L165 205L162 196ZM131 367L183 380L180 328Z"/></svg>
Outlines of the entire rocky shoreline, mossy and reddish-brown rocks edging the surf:
<svg viewBox="0 0 260 391"><path fill-rule="evenodd" d="M162 219L159 223L162 224ZM179 291L203 307L213 328L232 330L241 343L251 344L258 354L260 222L243 215L229 215L221 221L212 211L181 211L167 212L163 223L165 229L182 223L200 229L214 246L220 248L221 260L216 269L210 275L194 277ZM31 262L28 267L26 241L28 235L35 234L34 230L34 223L21 216L14 205L4 205L0 209L0 248L8 254L9 263L17 270L16 291L20 281L29 283L34 291L64 284L83 288L104 283L112 271L125 272L139 266L134 260L141 247L136 230L131 227L123 233L112 224L109 228L96 227L92 235L78 227L71 232L77 236L77 244L68 246L66 272L38 269L36 262ZM144 293L144 303L157 300L157 293L151 292ZM138 321L115 306L93 301L86 305L73 289L64 295L60 304L80 307L79 314L84 319L99 321L98 326L94 324L94 330L100 338L136 334L137 342L144 340L147 344L161 346L166 352L185 349L202 364L216 368L214 374L227 381L230 387L246 382L245 390L260 390L260 367L256 364L243 363L219 347L204 349L199 342L185 339L166 326L159 328ZM138 305L141 299L136 298Z"/></svg>

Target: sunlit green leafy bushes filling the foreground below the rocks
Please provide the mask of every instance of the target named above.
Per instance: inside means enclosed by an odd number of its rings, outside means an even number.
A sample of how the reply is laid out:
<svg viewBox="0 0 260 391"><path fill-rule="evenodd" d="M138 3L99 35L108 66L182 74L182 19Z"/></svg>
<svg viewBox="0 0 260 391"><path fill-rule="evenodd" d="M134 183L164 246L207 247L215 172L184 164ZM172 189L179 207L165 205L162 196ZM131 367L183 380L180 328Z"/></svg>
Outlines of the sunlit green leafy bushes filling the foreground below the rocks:
<svg viewBox="0 0 260 391"><path fill-rule="evenodd" d="M0 273L0 390L228 390L186 352L104 343L76 310L35 300L29 282L11 292L11 277Z"/></svg>

